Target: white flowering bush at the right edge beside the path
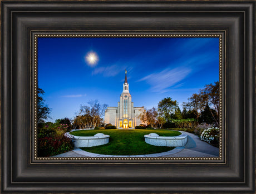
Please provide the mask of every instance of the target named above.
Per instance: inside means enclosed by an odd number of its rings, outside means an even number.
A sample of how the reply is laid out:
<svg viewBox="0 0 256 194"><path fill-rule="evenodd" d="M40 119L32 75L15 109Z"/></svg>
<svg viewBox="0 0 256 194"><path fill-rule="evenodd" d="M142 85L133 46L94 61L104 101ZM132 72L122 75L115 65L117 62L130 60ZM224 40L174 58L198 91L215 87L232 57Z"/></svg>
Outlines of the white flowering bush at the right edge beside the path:
<svg viewBox="0 0 256 194"><path fill-rule="evenodd" d="M219 128L210 127L201 133L200 139L213 145L219 144Z"/></svg>

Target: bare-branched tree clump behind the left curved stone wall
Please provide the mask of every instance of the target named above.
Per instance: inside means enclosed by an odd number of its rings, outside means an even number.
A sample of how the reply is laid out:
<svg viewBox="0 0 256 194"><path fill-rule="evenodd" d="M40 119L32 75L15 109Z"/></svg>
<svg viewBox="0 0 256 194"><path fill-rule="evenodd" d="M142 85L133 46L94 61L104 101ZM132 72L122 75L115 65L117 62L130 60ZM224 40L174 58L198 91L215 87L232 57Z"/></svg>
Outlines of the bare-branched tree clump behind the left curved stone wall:
<svg viewBox="0 0 256 194"><path fill-rule="evenodd" d="M87 102L88 105L80 105L77 124L84 128L95 128L103 123L102 116L105 113L107 105L100 105L98 100Z"/></svg>

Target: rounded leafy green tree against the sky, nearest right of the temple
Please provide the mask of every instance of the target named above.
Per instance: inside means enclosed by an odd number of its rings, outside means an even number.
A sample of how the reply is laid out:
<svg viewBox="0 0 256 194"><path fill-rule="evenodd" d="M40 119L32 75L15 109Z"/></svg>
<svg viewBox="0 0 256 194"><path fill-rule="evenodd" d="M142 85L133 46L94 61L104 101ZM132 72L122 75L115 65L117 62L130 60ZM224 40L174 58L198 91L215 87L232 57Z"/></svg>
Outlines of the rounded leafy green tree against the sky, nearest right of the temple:
<svg viewBox="0 0 256 194"><path fill-rule="evenodd" d="M158 103L157 110L160 117L163 117L166 122L171 121L174 117L175 111L178 109L177 101L171 100L170 97L164 98Z"/></svg>

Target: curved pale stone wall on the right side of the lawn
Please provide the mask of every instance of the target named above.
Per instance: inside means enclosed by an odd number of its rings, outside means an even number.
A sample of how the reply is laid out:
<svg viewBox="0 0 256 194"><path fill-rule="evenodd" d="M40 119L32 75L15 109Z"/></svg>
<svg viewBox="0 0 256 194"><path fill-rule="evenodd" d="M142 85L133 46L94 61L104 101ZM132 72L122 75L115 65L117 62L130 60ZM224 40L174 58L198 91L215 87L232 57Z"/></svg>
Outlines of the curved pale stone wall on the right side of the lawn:
<svg viewBox="0 0 256 194"><path fill-rule="evenodd" d="M145 135L145 142L153 146L168 146L168 147L180 147L185 146L188 142L188 135L181 134L174 137L159 136L156 133L150 133Z"/></svg>

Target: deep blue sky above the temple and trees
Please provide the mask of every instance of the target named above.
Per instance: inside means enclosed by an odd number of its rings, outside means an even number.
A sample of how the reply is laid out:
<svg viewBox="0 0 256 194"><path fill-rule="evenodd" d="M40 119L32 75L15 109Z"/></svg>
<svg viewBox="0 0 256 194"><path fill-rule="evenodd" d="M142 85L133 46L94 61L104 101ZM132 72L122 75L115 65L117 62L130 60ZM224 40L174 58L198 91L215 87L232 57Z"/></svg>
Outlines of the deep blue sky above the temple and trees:
<svg viewBox="0 0 256 194"><path fill-rule="evenodd" d="M85 60L91 51L99 57L94 67ZM73 118L90 100L117 106L125 69L135 107L156 107L165 97L181 107L219 80L219 38L38 38L38 86L52 109L48 121Z"/></svg>

